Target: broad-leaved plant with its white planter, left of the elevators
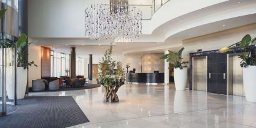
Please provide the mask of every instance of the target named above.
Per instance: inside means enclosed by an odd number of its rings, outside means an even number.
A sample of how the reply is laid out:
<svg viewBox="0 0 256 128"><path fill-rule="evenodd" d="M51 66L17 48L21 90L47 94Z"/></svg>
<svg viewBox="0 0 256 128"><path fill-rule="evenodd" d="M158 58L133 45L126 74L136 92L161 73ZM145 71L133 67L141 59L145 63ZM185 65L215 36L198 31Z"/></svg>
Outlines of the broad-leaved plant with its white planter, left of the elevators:
<svg viewBox="0 0 256 128"><path fill-rule="evenodd" d="M185 90L187 84L187 61L182 61L181 54L184 51L182 47L179 52L169 51L169 54L165 54L160 59L165 59L170 64L174 65L174 83L176 90Z"/></svg>

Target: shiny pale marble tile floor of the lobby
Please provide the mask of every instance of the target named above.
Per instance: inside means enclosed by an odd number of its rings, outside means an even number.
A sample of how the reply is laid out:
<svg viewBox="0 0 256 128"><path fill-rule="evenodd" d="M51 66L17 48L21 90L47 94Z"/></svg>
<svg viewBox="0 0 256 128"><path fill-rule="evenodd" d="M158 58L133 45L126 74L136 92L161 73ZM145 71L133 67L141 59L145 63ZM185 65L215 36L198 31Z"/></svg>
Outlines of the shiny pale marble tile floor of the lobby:
<svg viewBox="0 0 256 128"><path fill-rule="evenodd" d="M174 85L126 84L120 102L102 103L103 88L39 92L29 96L72 96L89 119L81 128L256 127L256 103L245 97L175 91Z"/></svg>

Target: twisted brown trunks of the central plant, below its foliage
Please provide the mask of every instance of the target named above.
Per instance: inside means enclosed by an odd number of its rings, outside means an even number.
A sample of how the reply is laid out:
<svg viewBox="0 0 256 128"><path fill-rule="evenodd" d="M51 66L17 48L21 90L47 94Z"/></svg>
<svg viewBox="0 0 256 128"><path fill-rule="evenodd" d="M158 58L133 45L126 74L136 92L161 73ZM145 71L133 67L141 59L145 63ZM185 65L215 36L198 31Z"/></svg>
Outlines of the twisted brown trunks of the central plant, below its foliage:
<svg viewBox="0 0 256 128"><path fill-rule="evenodd" d="M121 86L103 86L105 88L105 94L102 102L119 102L117 91Z"/></svg>

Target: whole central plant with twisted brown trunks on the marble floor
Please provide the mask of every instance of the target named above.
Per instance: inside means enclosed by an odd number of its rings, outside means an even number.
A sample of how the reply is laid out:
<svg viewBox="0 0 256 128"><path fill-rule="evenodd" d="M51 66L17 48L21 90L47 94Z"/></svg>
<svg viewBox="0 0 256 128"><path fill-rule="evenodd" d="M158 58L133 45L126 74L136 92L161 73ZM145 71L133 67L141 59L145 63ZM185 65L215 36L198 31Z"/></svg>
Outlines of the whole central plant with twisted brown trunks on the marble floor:
<svg viewBox="0 0 256 128"><path fill-rule="evenodd" d="M124 85L125 71L121 62L113 61L111 58L112 46L105 52L99 62L98 81L105 89L102 102L119 102L117 91Z"/></svg>

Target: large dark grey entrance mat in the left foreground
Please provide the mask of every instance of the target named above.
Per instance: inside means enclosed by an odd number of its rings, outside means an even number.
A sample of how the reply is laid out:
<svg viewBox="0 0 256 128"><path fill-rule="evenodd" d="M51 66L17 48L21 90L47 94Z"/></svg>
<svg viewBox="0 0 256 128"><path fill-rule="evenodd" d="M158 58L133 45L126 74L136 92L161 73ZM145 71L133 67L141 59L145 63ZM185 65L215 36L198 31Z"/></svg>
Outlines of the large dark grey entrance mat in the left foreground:
<svg viewBox="0 0 256 128"><path fill-rule="evenodd" d="M0 117L0 127L70 127L89 122L72 97L26 97L19 109Z"/></svg>

